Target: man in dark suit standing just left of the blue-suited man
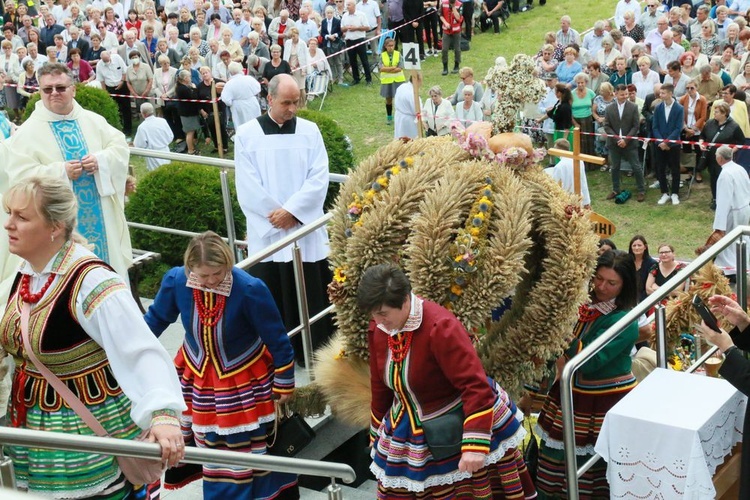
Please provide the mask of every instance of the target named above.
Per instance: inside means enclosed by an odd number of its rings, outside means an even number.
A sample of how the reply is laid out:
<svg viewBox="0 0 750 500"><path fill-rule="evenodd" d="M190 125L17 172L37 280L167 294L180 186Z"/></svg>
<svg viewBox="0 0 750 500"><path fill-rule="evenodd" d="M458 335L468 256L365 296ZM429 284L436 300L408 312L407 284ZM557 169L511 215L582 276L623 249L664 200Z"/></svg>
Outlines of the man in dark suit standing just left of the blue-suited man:
<svg viewBox="0 0 750 500"><path fill-rule="evenodd" d="M643 165L638 161L638 141L627 139L635 137L640 127L640 115L638 105L628 99L628 87L620 84L615 89L617 101L610 104L604 111L604 131L609 148L609 163L612 167L612 192L607 199L614 199L620 194L620 163L626 160L633 166L635 172L635 183L638 188L636 200L642 202L646 199L646 185L643 180Z"/></svg>

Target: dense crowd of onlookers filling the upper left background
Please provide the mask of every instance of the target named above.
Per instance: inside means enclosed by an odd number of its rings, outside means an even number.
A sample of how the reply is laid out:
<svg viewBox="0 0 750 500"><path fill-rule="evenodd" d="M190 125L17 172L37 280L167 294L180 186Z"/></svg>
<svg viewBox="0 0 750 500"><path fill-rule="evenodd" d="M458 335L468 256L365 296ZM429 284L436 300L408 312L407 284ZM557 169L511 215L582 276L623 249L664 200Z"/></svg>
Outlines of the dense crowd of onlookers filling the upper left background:
<svg viewBox="0 0 750 500"><path fill-rule="evenodd" d="M6 3L0 5L5 35L0 76L7 84L0 104L8 108L11 121L20 123L26 102L38 92L36 70L47 62L62 62L73 70L76 83L112 94L128 138L135 133L134 111L149 101L154 115L164 118L172 130L172 149L190 154L199 154L199 136L206 145L213 144L213 153L225 152L233 131L257 116L234 109L230 113L226 107L257 100L257 113L264 111L266 86L277 74L295 78L301 106L310 89L329 81L349 85L344 83L347 70L351 85L359 84L362 76L372 84L375 72L381 74L381 81L398 84L403 80L388 75L387 69L383 74L384 66L392 64L385 59L388 37L417 42L422 60L442 53L444 75L453 51L452 73L458 73L461 46L471 41L475 29L484 32L494 27L497 33L511 12L531 6L519 8L517 1L509 5L507 0L476 5L474 0L392 0L383 5L375 0L285 0L268 5L252 0L191 0L158 6L159 2L149 1ZM398 29L381 39L387 28ZM242 71L232 73L233 62ZM222 141L217 141L212 121L215 98L198 95L201 68L208 68L219 96ZM181 71L190 73L191 83ZM254 77L259 86L235 85L232 96L225 99L225 84L240 75ZM394 95L395 88L385 95L391 101L386 103L391 110L389 123ZM477 102L480 98L481 92L475 93ZM457 108L459 118L477 118L478 108L466 102L464 108Z"/></svg>

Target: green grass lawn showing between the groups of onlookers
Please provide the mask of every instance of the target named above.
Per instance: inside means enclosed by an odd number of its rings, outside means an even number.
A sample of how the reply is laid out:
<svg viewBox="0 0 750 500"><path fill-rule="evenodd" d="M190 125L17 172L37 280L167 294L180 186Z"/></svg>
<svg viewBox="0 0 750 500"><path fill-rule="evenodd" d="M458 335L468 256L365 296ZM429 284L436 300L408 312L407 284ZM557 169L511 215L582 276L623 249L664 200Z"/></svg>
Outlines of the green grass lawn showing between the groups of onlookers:
<svg viewBox="0 0 750 500"><path fill-rule="evenodd" d="M523 3L523 2L522 2ZM535 8L529 12L515 14L508 20L508 28L498 35L487 33L475 34L471 50L463 53L462 66L474 69L477 80L482 80L487 70L494 64L495 58L502 55L508 61L519 52L535 54L540 48L547 31L559 29L559 19L568 14L573 20L573 27L579 32L593 25L594 21L608 18L614 14L615 0L552 0L543 7L534 2ZM450 57L450 66L453 56ZM444 95L450 95L458 84L457 75L441 76L442 64L439 57L428 57L422 63L423 85L422 100L427 96L426 89L441 85ZM355 87L335 86L328 94L323 112L329 114L344 128L349 135L357 160L372 154L380 146L393 139L393 127L386 124L384 100L380 97L376 83L371 86ZM313 109L318 109L315 101ZM210 149L201 146L204 151ZM232 157L230 150L229 158ZM134 158L137 172L145 171L143 161ZM678 207L671 204L657 206L658 190L650 189L646 202L637 203L634 199L624 205L615 205L606 201L611 191L610 174L604 172L589 173L589 187L592 205L596 212L609 218L617 226L613 240L618 247L626 248L630 238L643 234L651 245L652 253L660 243L671 243L677 250L679 258L689 259L693 249L703 244L711 232L713 212L708 209L710 189L708 182L695 184L689 199L683 200ZM653 179L647 179L652 183ZM633 178L623 177L623 188L635 192ZM682 191L683 197L686 190Z"/></svg>

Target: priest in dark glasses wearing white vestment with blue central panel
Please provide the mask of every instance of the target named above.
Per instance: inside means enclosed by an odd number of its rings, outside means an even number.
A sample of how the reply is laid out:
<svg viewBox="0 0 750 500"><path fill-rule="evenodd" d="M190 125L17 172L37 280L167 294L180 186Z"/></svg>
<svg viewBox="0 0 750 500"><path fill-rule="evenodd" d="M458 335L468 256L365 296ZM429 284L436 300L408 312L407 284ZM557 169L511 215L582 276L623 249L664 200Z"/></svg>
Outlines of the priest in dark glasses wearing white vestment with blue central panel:
<svg viewBox="0 0 750 500"><path fill-rule="evenodd" d="M7 145L0 195L21 179L68 179L78 199L78 227L92 251L128 280L133 251L123 210L130 151L122 132L75 101L75 86L64 64L37 73L41 100ZM7 218L5 211L2 222ZM19 260L0 238L0 300L7 299Z"/></svg>

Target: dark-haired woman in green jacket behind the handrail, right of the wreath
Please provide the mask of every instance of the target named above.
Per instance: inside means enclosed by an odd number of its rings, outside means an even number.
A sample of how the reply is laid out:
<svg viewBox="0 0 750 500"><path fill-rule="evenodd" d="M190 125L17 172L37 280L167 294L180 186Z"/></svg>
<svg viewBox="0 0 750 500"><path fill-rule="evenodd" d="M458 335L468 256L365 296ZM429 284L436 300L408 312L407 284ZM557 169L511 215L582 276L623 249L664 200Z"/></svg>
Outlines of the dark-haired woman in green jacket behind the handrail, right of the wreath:
<svg viewBox="0 0 750 500"><path fill-rule="evenodd" d="M599 256L592 281L591 302L581 306L575 337L557 360L559 379L565 363L622 319L638 302L638 281L633 257L620 250ZM594 454L604 415L636 385L630 352L638 339L638 324L631 323L612 342L587 361L573 381L577 467ZM567 498L563 451L560 386L556 380L539 414L541 445L537 488L539 498ZM598 462L579 481L582 499L609 498L607 464Z"/></svg>

